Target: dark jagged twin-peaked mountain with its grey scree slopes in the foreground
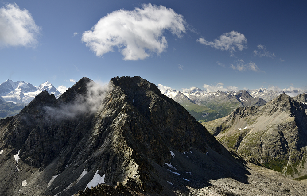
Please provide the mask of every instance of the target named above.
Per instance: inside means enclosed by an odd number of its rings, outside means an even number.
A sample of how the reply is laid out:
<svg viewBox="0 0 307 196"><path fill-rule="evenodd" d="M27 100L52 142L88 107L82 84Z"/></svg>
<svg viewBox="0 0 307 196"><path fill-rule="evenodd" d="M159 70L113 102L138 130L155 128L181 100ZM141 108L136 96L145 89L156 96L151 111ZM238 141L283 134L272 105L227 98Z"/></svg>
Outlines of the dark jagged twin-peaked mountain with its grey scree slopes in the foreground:
<svg viewBox="0 0 307 196"><path fill-rule="evenodd" d="M306 187L228 152L140 77L107 88L82 78L0 120L3 196L304 195Z"/></svg>

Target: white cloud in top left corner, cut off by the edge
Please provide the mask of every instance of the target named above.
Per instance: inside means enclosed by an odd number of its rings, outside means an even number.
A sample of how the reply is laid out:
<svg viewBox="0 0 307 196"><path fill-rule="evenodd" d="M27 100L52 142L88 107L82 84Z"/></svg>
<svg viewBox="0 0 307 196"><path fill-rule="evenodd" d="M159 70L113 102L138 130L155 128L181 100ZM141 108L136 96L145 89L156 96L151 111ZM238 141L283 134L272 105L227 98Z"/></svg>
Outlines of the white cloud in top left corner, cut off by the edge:
<svg viewBox="0 0 307 196"><path fill-rule="evenodd" d="M0 8L0 46L35 47L40 31L28 10L17 4Z"/></svg>

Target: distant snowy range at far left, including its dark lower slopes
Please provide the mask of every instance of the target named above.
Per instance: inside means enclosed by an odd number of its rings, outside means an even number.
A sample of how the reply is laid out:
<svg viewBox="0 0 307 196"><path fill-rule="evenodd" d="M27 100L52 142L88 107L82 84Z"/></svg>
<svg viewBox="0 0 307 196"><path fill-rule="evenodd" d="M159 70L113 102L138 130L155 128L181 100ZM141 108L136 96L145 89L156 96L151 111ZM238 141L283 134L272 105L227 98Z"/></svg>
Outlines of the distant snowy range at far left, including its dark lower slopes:
<svg viewBox="0 0 307 196"><path fill-rule="evenodd" d="M49 82L36 87L24 81L6 80L0 84L0 118L18 114L36 95L44 90L48 91L49 94L54 94L56 98L61 95Z"/></svg>

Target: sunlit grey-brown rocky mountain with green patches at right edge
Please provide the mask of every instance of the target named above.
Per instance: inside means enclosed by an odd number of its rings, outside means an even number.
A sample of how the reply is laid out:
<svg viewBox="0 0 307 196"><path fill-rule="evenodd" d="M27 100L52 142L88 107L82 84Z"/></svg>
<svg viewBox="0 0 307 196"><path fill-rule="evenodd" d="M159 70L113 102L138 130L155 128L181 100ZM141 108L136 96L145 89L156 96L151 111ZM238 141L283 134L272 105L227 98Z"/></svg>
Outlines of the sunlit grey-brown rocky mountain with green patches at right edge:
<svg viewBox="0 0 307 196"><path fill-rule="evenodd" d="M265 106L238 108L216 121L205 126L228 147L287 176L306 174L307 116L302 104L288 95Z"/></svg>

